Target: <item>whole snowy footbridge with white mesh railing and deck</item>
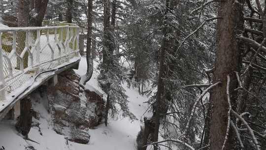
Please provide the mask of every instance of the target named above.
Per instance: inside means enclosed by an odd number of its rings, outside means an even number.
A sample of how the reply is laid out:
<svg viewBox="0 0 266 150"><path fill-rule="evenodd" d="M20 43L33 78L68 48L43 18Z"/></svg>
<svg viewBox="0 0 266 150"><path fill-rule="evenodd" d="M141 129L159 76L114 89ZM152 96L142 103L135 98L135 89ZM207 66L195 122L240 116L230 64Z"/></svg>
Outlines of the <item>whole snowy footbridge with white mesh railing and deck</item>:
<svg viewBox="0 0 266 150"><path fill-rule="evenodd" d="M0 120L79 60L78 26L0 28Z"/></svg>

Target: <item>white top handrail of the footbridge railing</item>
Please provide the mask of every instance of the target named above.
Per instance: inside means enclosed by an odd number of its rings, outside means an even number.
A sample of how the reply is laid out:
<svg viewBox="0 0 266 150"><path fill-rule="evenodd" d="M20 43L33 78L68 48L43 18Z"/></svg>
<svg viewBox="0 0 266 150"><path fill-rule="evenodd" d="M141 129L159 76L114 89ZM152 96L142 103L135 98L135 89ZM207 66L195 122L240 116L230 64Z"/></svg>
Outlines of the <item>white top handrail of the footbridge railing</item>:
<svg viewBox="0 0 266 150"><path fill-rule="evenodd" d="M0 28L0 32L18 32L18 31L34 31L34 30L47 30L47 29L60 29L60 28L79 28L78 26L52 26L52 27L9 27Z"/></svg>

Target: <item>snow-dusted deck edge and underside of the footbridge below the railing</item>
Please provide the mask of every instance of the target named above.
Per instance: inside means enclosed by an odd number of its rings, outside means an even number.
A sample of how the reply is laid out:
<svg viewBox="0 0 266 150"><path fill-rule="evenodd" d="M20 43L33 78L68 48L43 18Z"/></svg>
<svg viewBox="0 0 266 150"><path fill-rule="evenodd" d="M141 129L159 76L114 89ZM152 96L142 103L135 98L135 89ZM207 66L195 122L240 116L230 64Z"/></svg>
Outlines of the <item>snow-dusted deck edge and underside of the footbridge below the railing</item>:
<svg viewBox="0 0 266 150"><path fill-rule="evenodd" d="M52 70L38 74L32 80L29 80L23 86L16 89L16 91L6 95L6 100L0 101L0 120L3 119L11 109L19 109L20 107L18 107L16 104L19 104L20 100L28 96L31 92L47 82L49 79L57 77L58 74L68 69L78 69L79 61L80 57L74 57L68 63L64 63Z"/></svg>

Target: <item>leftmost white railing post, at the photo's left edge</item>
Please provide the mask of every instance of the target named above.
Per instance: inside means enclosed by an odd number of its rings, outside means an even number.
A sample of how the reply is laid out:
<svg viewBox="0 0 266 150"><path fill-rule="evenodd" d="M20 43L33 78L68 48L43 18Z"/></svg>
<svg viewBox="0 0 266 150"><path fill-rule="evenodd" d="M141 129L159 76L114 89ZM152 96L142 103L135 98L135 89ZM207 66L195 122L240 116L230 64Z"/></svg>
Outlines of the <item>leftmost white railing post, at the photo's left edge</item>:
<svg viewBox="0 0 266 150"><path fill-rule="evenodd" d="M4 81L4 70L3 70L3 53L2 53L2 33L0 33L0 101L5 100L5 81Z"/></svg>

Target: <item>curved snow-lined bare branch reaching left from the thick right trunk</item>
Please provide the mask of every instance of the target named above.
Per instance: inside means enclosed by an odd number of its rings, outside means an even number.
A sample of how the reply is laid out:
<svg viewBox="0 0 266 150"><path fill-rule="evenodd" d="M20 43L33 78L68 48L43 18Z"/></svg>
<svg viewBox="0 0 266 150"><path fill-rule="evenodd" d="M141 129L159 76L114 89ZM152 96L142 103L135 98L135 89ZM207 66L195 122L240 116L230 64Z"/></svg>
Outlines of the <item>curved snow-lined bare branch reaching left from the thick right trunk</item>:
<svg viewBox="0 0 266 150"><path fill-rule="evenodd" d="M188 134L188 129L189 129L189 125L190 125L190 122L192 120L192 117L194 116L195 112L196 112L196 108L197 108L197 105L199 103L199 101L203 98L203 96L210 90L212 89L213 87L215 87L216 85L220 84L221 82L217 82L215 84L212 84L211 86L209 86L208 88L206 88L202 94L200 94L199 98L196 100L196 102L194 103L193 105L193 108L192 108L192 112L190 114L190 117L188 119L188 123L186 125L186 129L185 129L185 136Z"/></svg>

